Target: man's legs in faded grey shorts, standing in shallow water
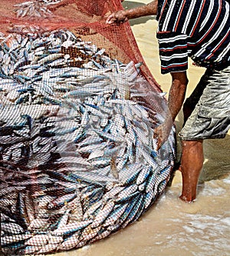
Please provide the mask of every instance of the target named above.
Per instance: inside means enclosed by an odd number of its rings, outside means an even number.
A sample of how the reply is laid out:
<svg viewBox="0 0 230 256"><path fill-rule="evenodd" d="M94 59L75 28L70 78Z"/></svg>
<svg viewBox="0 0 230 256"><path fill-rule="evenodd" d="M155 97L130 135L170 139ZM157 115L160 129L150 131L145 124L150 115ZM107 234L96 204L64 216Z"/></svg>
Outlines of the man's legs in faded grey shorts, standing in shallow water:
<svg viewBox="0 0 230 256"><path fill-rule="evenodd" d="M204 160L202 140L225 138L230 128L229 75L229 67L222 71L205 71L199 85L185 102L185 124L179 132L182 139L180 198L184 201L193 201L196 197L196 187Z"/></svg>

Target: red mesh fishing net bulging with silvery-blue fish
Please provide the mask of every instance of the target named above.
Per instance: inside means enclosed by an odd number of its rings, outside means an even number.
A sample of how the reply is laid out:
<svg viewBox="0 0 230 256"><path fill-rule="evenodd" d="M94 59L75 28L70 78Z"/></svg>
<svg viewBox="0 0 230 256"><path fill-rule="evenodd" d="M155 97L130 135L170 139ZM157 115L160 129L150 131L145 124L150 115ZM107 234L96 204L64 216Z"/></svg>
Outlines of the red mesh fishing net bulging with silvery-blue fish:
<svg viewBox="0 0 230 256"><path fill-rule="evenodd" d="M3 255L67 251L133 223L169 181L175 130L120 0L2 0Z"/></svg>

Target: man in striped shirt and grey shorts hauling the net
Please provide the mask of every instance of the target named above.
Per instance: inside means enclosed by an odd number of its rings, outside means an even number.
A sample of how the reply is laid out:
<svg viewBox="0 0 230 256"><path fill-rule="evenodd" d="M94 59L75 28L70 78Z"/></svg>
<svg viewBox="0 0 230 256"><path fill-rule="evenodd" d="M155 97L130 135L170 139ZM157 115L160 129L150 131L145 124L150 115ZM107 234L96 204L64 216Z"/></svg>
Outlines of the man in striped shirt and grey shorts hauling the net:
<svg viewBox="0 0 230 256"><path fill-rule="evenodd" d="M180 198L192 202L204 161L203 140L224 138L230 128L229 3L227 0L156 0L113 12L106 23L120 24L146 15L156 15L161 72L172 76L168 98L171 117L168 116L154 134L160 148L183 105L184 124L179 132L182 141ZM188 57L206 71L184 102Z"/></svg>

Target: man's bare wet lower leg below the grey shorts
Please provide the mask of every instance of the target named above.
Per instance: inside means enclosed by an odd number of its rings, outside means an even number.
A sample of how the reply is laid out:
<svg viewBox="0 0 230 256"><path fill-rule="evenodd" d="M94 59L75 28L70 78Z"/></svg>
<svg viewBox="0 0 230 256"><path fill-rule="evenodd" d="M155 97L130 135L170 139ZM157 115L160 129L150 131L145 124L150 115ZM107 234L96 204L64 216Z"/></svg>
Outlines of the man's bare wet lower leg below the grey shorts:
<svg viewBox="0 0 230 256"><path fill-rule="evenodd" d="M197 183L204 161L202 142L202 140L182 141L180 166L180 171L182 171L182 194L180 198L184 201L192 202L196 198Z"/></svg>

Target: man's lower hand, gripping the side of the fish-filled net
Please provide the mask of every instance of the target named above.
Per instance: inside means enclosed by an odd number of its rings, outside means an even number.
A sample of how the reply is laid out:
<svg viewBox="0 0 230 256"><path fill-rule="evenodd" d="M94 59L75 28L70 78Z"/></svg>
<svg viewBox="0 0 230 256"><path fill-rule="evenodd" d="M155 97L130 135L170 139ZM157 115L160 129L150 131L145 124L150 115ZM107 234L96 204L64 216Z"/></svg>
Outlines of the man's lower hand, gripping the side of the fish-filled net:
<svg viewBox="0 0 230 256"><path fill-rule="evenodd" d="M164 122L162 125L159 125L157 128L154 129L153 138L156 138L156 151L161 148L161 146L167 141L169 138L169 134L172 128L172 123Z"/></svg>

